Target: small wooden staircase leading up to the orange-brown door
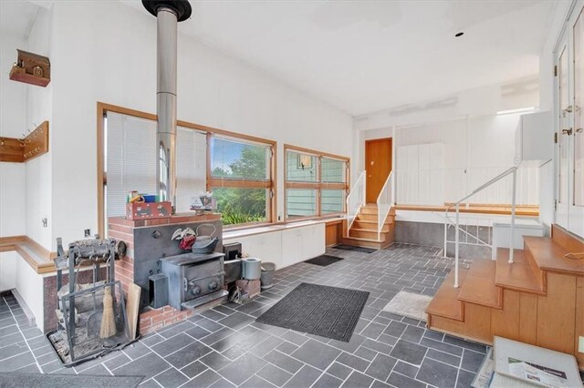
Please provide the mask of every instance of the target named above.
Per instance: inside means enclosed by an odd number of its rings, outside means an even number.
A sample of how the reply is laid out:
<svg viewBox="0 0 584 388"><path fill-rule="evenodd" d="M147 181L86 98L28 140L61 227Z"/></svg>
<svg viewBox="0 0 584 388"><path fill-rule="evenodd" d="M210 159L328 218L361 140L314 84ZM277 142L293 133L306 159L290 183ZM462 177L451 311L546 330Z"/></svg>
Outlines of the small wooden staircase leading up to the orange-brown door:
<svg viewBox="0 0 584 388"><path fill-rule="evenodd" d="M343 230L347 230L345 227ZM376 204L367 204L360 208L347 236L342 243L356 247L366 247L381 250L393 242L395 234L395 208L390 212L381 227L378 239L378 209Z"/></svg>

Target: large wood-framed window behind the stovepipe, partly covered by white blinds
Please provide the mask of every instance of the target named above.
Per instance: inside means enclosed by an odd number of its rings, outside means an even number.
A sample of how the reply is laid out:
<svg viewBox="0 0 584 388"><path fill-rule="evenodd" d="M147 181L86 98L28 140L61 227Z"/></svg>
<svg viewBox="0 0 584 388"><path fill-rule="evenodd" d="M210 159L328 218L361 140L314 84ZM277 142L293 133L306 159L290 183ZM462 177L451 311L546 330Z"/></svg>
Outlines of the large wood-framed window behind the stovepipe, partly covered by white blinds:
<svg viewBox="0 0 584 388"><path fill-rule="evenodd" d="M155 193L156 117L98 104L98 221L125 215L130 190ZM179 122L176 132L176 212L193 197L214 192L224 225L274 220L276 142Z"/></svg>

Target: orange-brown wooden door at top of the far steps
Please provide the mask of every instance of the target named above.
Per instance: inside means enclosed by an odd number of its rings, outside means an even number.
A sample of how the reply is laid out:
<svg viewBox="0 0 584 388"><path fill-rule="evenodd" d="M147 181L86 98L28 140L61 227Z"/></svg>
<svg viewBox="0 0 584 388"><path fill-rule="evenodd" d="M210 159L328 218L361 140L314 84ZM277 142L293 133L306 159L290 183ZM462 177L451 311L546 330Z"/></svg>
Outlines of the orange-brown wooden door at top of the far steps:
<svg viewBox="0 0 584 388"><path fill-rule="evenodd" d="M367 203L376 203L391 172L391 138L365 141L365 170L367 171Z"/></svg>

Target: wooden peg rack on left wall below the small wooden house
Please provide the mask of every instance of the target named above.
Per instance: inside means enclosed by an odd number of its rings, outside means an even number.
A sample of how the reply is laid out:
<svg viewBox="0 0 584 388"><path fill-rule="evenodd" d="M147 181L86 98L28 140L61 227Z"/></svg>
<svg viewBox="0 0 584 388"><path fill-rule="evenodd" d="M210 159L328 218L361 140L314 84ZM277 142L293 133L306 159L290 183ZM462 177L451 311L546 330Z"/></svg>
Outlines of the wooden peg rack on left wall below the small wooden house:
<svg viewBox="0 0 584 388"><path fill-rule="evenodd" d="M26 138L0 138L0 161L22 163L48 152L48 121Z"/></svg>

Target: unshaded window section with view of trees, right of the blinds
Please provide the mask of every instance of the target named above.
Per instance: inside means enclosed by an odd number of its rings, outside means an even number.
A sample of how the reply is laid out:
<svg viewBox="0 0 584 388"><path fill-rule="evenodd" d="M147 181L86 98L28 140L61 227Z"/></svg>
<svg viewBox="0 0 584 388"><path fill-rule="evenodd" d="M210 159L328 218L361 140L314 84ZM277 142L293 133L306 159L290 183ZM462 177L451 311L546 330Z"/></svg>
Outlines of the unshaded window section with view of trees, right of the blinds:
<svg viewBox="0 0 584 388"><path fill-rule="evenodd" d="M273 147L271 143L210 136L208 183L224 225L271 222Z"/></svg>

